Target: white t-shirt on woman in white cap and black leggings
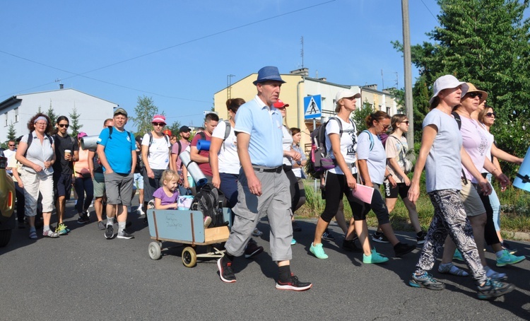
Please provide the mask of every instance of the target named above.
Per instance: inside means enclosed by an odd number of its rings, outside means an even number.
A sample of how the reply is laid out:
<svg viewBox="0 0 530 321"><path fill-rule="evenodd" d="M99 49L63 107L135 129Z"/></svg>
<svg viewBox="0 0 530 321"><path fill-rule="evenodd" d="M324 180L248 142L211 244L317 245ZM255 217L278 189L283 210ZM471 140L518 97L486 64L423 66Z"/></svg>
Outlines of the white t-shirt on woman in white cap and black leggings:
<svg viewBox="0 0 530 321"><path fill-rule="evenodd" d="M338 126L336 119L341 121L342 134L341 128ZM329 140L329 134L339 134L341 136L341 154L344 161L346 161L346 164L355 164L355 153L357 150L357 127L355 127L355 123L344 122L340 117L329 119L328 124L326 125L326 148L329 157L335 158L333 155L333 148L331 147L331 141ZM329 170L329 173L344 175L341 168L338 166ZM357 173L355 165L352 165L352 173Z"/></svg>

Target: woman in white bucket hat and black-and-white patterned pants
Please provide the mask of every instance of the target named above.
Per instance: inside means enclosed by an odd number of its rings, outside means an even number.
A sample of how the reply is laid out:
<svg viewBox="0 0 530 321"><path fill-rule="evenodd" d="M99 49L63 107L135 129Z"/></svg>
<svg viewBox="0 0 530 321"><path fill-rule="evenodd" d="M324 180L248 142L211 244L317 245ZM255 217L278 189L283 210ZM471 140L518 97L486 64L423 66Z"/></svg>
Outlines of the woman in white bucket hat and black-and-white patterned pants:
<svg viewBox="0 0 530 321"><path fill-rule="evenodd" d="M414 170L408 199L415 203L420 195L420 176L425 167L426 189L435 212L420 252L416 270L408 282L416 288L442 290L445 284L434 279L428 271L447 235L450 235L463 253L471 275L476 281L477 295L485 300L502 296L514 289L512 284L489 279L478 256L473 230L466 220L466 211L460 199L462 165L476 178L485 194L491 187L476 169L471 158L463 151L458 124L451 116L453 107L460 104L469 86L452 75L437 78L434 95L430 99L430 112L423 119L420 153Z"/></svg>

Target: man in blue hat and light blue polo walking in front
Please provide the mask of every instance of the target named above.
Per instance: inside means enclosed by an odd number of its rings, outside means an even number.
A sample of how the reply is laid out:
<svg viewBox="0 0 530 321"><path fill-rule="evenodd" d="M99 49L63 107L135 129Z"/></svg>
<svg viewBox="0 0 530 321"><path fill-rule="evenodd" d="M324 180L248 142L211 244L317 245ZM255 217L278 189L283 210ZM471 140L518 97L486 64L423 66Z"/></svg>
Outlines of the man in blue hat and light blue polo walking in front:
<svg viewBox="0 0 530 321"><path fill-rule="evenodd" d="M226 253L217 266L220 279L235 282L232 260L245 252L252 231L259 219L269 217L271 227L271 257L278 264L276 288L305 291L312 287L290 272L293 226L290 223L289 181L283 173L282 117L273 107L285 83L275 66L265 66L258 71L254 85L254 100L241 105L235 116L237 152L241 169L237 182L237 204L230 237L225 244Z"/></svg>

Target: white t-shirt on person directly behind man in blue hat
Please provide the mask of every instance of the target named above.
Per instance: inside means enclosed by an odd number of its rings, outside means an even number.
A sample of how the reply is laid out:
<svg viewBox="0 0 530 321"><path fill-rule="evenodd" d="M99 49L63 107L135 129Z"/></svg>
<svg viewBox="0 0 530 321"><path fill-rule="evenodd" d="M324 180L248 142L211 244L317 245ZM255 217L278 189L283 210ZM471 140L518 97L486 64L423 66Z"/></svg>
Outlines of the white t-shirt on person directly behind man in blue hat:
<svg viewBox="0 0 530 321"><path fill-rule="evenodd" d="M225 139L226 132L226 122L219 122L217 127L213 129L212 137L218 139ZM219 173L226 174L239 174L240 173L240 158L237 156L237 137L233 127L230 127L230 134L223 141L221 148L219 150L218 163L219 163Z"/></svg>

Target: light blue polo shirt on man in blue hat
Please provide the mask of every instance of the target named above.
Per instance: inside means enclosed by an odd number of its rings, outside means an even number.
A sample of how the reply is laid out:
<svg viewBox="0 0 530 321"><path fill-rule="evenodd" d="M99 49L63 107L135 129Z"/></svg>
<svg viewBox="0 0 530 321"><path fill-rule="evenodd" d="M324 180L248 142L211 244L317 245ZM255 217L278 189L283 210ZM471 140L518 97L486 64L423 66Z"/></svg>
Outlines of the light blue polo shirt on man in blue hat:
<svg viewBox="0 0 530 321"><path fill-rule="evenodd" d="M267 106L256 95L237 110L235 132L250 135L249 155L254 165L278 167L283 163L282 118L275 107Z"/></svg>

